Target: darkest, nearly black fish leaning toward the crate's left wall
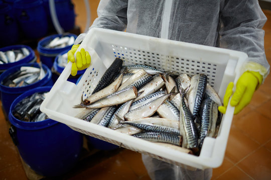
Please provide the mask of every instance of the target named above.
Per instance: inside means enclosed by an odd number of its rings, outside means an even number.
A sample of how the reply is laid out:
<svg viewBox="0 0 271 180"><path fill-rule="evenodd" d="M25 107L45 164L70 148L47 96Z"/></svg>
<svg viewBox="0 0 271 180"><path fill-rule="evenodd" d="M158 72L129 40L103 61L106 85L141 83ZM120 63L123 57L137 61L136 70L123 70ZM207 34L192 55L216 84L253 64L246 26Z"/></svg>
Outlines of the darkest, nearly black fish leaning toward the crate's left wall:
<svg viewBox="0 0 271 180"><path fill-rule="evenodd" d="M115 58L112 64L104 72L97 86L93 90L92 94L95 92L98 92L99 90L109 85L112 82L112 80L115 78L115 76L118 74L121 66L122 66L122 60L120 58Z"/></svg>

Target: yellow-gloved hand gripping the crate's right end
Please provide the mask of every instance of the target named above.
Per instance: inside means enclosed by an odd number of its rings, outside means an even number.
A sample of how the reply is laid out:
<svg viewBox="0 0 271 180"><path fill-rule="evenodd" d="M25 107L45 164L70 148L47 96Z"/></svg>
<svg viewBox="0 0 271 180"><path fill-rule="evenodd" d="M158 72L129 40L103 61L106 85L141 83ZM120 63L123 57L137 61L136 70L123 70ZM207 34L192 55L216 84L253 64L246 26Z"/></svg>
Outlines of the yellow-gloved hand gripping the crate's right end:
<svg viewBox="0 0 271 180"><path fill-rule="evenodd" d="M235 106L234 114L239 113L250 102L254 91L261 82L262 75L255 71L245 71L239 77L236 83L236 90L230 100L230 105ZM228 84L224 95L224 105L218 107L218 110L222 113L226 112L233 85L233 82Z"/></svg>

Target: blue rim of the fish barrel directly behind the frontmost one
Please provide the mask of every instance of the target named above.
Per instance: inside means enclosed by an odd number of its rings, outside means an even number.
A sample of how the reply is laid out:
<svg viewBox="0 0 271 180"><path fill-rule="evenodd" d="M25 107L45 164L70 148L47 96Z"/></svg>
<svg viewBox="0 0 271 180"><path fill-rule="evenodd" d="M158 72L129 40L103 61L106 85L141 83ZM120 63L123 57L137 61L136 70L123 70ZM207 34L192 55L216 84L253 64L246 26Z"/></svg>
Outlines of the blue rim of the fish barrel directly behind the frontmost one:
<svg viewBox="0 0 271 180"><path fill-rule="evenodd" d="M6 93L22 93L25 92L26 90L28 90L29 88L35 88L37 84L40 83L39 86L42 86L43 84L46 84L51 78L52 78L52 72L49 69L49 67L45 64L42 64L43 68L46 69L46 74L45 76L38 80L37 82L34 82L32 84L29 85L25 85L22 87L8 87L2 84L2 81L8 76L10 75L12 72L15 72L17 70L19 70L21 68L21 66L34 66L34 67L39 67L39 64L37 62L34 63L23 63L23 64L19 64L16 65L14 67L11 67L9 69L7 69L6 71L4 71L2 74L0 74L0 91L6 92Z"/></svg>

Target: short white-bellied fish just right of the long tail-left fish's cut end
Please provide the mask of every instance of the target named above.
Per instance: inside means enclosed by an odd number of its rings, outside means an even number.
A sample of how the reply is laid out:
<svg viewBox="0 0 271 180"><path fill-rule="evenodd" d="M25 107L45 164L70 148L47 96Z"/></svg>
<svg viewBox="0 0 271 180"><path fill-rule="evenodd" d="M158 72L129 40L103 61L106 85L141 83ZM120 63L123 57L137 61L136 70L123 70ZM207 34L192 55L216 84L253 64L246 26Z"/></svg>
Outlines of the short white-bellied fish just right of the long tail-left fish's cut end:
<svg viewBox="0 0 271 180"><path fill-rule="evenodd" d="M153 80L151 80L146 85L144 85L143 87L140 88L140 90L138 91L138 93L140 95L137 98L135 98L134 100L139 100L139 99L145 97L146 95L150 95L151 93L156 92L164 84L165 84L165 81L163 80L163 78L160 75L154 76Z"/></svg>

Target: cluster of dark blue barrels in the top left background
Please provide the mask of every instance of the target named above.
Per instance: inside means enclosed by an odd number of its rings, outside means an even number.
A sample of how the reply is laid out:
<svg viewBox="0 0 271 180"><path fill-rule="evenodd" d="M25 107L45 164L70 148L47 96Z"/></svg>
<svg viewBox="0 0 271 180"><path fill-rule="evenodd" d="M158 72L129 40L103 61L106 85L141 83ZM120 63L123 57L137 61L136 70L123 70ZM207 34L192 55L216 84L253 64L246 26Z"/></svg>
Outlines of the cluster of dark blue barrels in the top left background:
<svg viewBox="0 0 271 180"><path fill-rule="evenodd" d="M75 12L71 0L55 0L56 15L64 31L74 28ZM54 30L49 0L1 0L0 47L20 38L37 39Z"/></svg>

